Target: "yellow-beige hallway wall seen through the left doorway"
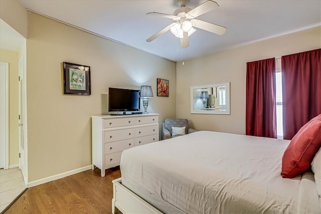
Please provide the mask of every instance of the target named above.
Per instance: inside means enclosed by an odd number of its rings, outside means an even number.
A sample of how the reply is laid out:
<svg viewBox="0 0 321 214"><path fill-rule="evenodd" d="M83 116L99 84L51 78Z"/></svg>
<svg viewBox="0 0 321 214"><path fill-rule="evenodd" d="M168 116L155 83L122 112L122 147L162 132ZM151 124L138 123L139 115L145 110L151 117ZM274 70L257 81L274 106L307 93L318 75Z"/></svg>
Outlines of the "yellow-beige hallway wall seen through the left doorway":
<svg viewBox="0 0 321 214"><path fill-rule="evenodd" d="M19 164L18 62L19 53L0 49L0 61L9 63L9 166Z"/></svg>

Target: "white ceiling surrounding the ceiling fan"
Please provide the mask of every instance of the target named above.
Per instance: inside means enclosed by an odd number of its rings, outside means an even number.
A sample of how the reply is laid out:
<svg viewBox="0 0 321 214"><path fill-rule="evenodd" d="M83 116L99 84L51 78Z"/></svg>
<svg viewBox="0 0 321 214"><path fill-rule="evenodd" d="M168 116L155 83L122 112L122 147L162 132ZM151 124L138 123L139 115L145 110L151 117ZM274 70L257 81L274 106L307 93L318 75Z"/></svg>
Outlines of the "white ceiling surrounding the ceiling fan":
<svg viewBox="0 0 321 214"><path fill-rule="evenodd" d="M167 32L147 43L146 39L173 20L147 16L148 12L173 14L177 0L20 0L30 11L60 20L114 41L172 61L215 53L256 41L321 25L321 1L220 1L219 8L197 19L224 26L222 35L197 29L190 46ZM205 0L191 0L194 9Z"/></svg>

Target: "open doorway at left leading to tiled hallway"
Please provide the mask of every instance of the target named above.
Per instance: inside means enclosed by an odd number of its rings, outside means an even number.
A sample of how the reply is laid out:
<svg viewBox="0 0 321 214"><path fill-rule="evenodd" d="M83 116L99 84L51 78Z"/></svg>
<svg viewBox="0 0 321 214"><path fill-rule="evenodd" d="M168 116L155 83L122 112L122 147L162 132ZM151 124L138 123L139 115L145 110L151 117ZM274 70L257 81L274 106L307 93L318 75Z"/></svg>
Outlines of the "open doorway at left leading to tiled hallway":
<svg viewBox="0 0 321 214"><path fill-rule="evenodd" d="M0 19L0 52L1 61L9 64L9 118L7 125L8 130L8 147L1 148L1 156L6 156L5 163L7 169L1 169L0 192L4 196L0 203L0 212L15 199L28 183L28 163L27 163L27 95L26 95L26 71L27 71L27 40L15 31L6 22ZM1 66L1 79L2 70ZM21 80L18 77L21 76ZM1 87L2 88L2 83ZM3 102L1 102L2 104ZM18 120L19 114L23 118ZM1 116L1 122L3 116ZM23 124L22 126L19 126ZM1 128L3 130L3 128ZM10 137L9 137L10 136ZM1 138L1 137L0 137ZM9 149L10 147L10 149ZM7 150L7 151L5 151ZM6 155L2 155L5 151ZM20 153L20 158L19 158ZM4 167L5 168L5 167ZM16 176L17 175L17 176ZM6 199L6 200L5 200Z"/></svg>

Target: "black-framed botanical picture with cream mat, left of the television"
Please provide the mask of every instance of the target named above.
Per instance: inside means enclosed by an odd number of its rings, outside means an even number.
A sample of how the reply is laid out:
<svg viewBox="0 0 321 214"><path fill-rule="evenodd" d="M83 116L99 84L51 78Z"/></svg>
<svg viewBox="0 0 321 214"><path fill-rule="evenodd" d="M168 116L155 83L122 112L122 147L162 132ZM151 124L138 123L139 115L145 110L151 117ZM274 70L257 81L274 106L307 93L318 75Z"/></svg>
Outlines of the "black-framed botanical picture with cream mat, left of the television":
<svg viewBox="0 0 321 214"><path fill-rule="evenodd" d="M63 63L64 94L90 95L90 66Z"/></svg>

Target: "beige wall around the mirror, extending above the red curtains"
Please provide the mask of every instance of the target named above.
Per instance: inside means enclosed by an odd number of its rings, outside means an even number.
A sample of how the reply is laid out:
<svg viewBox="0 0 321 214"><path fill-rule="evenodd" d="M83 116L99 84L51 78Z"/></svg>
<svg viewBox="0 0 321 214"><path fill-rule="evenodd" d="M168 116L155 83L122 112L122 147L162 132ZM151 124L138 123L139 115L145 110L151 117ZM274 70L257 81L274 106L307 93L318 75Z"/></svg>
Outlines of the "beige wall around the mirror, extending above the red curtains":
<svg viewBox="0 0 321 214"><path fill-rule="evenodd" d="M224 36L224 35L223 35ZM177 117L193 128L245 134L246 62L321 48L321 27L177 63ZM191 114L190 86L231 83L231 114Z"/></svg>

